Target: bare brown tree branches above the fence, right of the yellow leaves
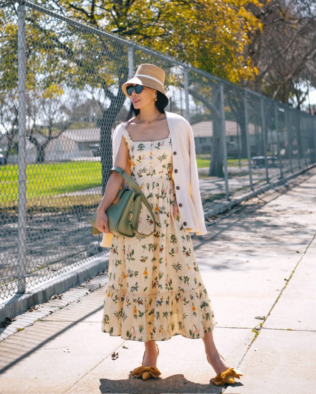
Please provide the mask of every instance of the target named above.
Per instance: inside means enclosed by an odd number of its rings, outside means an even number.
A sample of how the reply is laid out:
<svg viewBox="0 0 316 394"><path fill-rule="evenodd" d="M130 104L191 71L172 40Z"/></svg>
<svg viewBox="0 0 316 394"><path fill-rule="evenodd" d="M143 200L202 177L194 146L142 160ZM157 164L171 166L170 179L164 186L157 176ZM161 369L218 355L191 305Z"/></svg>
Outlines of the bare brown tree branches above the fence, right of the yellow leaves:
<svg viewBox="0 0 316 394"><path fill-rule="evenodd" d="M262 0L248 9L262 23L253 31L248 57L258 70L251 87L301 108L308 87L316 87L316 3L314 0Z"/></svg>

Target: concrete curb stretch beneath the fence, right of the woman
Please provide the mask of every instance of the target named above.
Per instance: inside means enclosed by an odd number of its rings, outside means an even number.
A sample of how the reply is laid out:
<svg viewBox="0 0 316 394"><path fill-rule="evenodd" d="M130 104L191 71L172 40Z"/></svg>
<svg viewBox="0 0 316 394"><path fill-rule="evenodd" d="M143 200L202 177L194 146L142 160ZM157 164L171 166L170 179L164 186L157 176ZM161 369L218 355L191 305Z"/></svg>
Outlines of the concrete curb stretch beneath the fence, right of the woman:
<svg viewBox="0 0 316 394"><path fill-rule="evenodd" d="M284 178L280 178L279 180L275 181L275 182L270 182L264 186L262 186L261 188L251 191L249 193L243 194L240 197L231 200L231 201L225 201L223 203L220 204L216 204L216 206L214 208L209 209L207 212L204 213L204 219L207 220L209 219L211 216L215 216L218 214L222 214L223 212L227 211L228 209L232 208L235 205L239 205L240 203L242 203L243 201L247 201L249 199L251 199L252 197L255 197L258 194L264 193L265 191L269 190L269 189L273 189L276 188L278 186L282 186L284 185L288 180L297 177L298 175L301 175L303 173L305 173L306 171L309 171L310 169L316 167L316 164L310 164L308 167L305 167L304 169L301 169L300 171L297 171L291 175L288 175L287 177Z"/></svg>

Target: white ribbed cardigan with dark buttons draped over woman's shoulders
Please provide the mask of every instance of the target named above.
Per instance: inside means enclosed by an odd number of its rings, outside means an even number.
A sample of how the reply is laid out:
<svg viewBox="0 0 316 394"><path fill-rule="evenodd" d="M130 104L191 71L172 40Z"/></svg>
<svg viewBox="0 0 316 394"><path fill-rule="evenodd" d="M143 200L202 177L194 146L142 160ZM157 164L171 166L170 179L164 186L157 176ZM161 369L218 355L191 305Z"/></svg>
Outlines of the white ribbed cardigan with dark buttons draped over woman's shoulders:
<svg viewBox="0 0 316 394"><path fill-rule="evenodd" d="M198 183L192 128L183 116L167 111L165 111L165 114L172 142L172 178L182 225L190 232L195 232L196 235L207 234ZM120 123L113 133L113 166L120 148L122 133L127 123ZM175 170L178 171L175 172ZM131 175L130 162L128 162L125 171ZM178 186L179 189L177 189ZM180 203L182 206L179 206ZM103 233L101 246L110 247L111 243L112 234Z"/></svg>

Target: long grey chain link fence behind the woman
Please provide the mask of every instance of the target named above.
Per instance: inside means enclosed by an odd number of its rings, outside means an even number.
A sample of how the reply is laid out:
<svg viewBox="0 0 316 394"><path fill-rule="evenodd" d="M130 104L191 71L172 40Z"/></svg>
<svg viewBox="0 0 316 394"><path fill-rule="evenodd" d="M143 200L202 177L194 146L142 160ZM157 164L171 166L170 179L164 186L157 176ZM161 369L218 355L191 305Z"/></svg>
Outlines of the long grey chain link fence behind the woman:
<svg viewBox="0 0 316 394"><path fill-rule="evenodd" d="M192 125L204 206L316 162L316 119L207 72L24 2L0 11L0 299L105 253L90 217L141 63L166 72ZM17 3L15 3L17 4Z"/></svg>

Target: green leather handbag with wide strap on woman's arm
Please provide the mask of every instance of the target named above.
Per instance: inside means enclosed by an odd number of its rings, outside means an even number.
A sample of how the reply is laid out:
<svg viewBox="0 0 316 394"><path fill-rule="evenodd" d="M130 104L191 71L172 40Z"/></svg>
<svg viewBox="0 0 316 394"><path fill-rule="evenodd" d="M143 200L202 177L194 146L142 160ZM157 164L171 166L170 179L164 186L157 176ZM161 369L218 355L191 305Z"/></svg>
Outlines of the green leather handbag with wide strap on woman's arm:
<svg viewBox="0 0 316 394"><path fill-rule="evenodd" d="M110 169L109 175L112 171L116 171L126 180L131 189L120 189L111 205L107 208L105 213L108 216L108 229L116 236L132 238L136 234L141 237L149 237L156 230L156 221L153 216L153 211L148 204L143 192L140 190L138 184L120 167L113 167ZM153 231L150 234L142 234L137 231L138 219L140 214L140 204L144 203L149 210L153 219ZM99 236L101 232L95 227L95 220L97 212L92 216L90 223L92 225L92 234ZM98 238L99 242L99 238Z"/></svg>

